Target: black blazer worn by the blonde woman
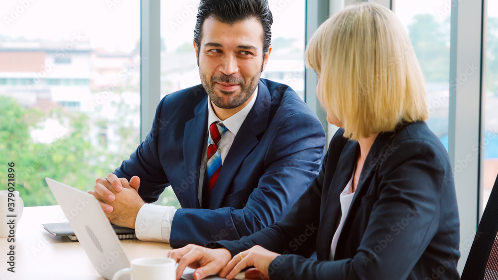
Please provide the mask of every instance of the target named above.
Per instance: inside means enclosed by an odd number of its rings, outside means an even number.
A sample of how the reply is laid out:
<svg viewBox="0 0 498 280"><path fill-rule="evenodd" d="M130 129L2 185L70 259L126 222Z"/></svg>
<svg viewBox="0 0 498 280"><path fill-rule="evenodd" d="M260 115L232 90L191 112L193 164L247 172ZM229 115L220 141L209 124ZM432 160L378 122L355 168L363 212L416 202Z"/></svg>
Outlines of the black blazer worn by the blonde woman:
<svg viewBox="0 0 498 280"><path fill-rule="evenodd" d="M225 247L254 245L282 254L271 279L459 279L459 219L448 153L423 122L381 133L366 158L358 188L329 261L339 225L339 195L350 180L358 142L339 130L322 170L275 225ZM316 250L317 259L308 259Z"/></svg>

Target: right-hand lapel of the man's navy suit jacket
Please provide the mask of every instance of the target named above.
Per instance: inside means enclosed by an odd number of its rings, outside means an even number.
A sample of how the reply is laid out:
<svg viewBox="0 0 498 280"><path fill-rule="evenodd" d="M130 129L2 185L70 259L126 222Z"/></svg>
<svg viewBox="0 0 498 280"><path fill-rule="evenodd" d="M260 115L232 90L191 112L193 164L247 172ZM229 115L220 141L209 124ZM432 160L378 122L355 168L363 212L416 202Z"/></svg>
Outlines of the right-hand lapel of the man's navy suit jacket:
<svg viewBox="0 0 498 280"><path fill-rule="evenodd" d="M257 136L266 130L271 96L268 88L259 81L256 101L237 133L225 158L216 185L211 193L209 209L222 207L223 199L240 165L249 152L259 143Z"/></svg>

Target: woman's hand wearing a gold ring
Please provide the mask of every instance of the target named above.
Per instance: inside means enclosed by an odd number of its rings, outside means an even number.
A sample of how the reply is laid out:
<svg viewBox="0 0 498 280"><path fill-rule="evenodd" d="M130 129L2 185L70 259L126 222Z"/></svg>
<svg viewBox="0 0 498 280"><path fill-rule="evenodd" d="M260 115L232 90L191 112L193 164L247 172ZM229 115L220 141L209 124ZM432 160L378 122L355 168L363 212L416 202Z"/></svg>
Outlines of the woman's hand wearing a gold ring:
<svg viewBox="0 0 498 280"><path fill-rule="evenodd" d="M273 253L264 249L261 246L254 246L249 250L239 253L234 256L228 265L220 272L220 277L233 279L238 273L247 267L254 266L255 270L248 270L246 277L254 277L259 279L269 279L268 267L270 263L280 254ZM260 275L262 274L262 275Z"/></svg>

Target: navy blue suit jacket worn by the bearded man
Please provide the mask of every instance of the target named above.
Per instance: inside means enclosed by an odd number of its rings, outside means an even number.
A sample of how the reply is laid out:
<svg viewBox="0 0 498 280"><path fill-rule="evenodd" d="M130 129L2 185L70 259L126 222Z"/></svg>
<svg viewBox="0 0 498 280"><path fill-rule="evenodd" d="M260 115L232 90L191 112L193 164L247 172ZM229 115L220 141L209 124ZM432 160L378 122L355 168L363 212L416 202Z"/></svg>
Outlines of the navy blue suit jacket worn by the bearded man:
<svg viewBox="0 0 498 280"><path fill-rule="evenodd" d="M239 240L280 220L316 177L324 154L325 133L315 113L288 86L261 79L209 209L200 209L207 101L202 85L165 96L146 139L115 170L128 180L139 176L138 193L148 203L171 185L182 206L172 223L172 247Z"/></svg>

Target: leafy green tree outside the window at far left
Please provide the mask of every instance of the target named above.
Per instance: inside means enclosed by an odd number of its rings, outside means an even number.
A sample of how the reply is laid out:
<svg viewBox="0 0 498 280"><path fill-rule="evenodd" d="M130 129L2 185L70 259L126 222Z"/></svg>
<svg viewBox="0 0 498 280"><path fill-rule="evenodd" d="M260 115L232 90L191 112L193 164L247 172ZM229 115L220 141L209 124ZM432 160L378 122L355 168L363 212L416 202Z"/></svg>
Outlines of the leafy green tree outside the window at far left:
<svg viewBox="0 0 498 280"><path fill-rule="evenodd" d="M52 143L33 141L30 131L46 119L67 122L71 131ZM88 137L88 117L55 108L43 114L35 108L23 108L12 98L0 96L0 182L7 185L7 163L14 162L15 187L25 206L56 204L45 177L88 190L88 178L96 178L98 166L92 164Z"/></svg>

